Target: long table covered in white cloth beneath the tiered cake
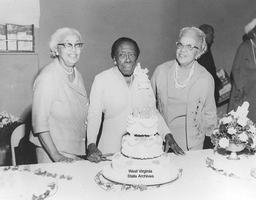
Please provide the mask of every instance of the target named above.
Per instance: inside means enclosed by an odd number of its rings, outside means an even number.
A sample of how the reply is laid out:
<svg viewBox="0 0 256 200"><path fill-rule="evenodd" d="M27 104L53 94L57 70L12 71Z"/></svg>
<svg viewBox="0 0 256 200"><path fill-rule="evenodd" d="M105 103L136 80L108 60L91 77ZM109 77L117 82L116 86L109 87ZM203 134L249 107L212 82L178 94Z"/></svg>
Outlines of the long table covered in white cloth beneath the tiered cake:
<svg viewBox="0 0 256 200"><path fill-rule="evenodd" d="M89 161L77 161L73 164L33 164L29 167L30 171L40 168L41 171L72 177L71 180L57 178L57 192L47 200L255 200L256 179L250 175L250 170L256 168L256 155L242 153L239 155L241 160L234 161L227 160L227 155L221 153L213 149L189 151L185 156L169 153L171 162L182 169L182 175L169 185L144 191L138 189L109 192L102 189L94 178L111 161L99 164ZM211 160L219 162L220 168L227 167L227 174L225 175L226 169L217 171L218 165L210 167L206 161ZM18 167L19 170L23 168L25 166ZM0 167L0 172L3 173L4 169L6 168ZM232 169L240 170L232 173ZM37 183L31 182L31 184Z"/></svg>

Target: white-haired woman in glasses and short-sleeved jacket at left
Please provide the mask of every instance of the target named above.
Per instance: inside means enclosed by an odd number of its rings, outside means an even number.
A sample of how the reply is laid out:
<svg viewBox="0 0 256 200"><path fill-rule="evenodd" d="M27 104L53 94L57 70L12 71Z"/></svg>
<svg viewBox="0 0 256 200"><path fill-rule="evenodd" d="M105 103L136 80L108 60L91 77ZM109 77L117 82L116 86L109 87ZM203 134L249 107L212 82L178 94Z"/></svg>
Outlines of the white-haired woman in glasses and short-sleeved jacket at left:
<svg viewBox="0 0 256 200"><path fill-rule="evenodd" d="M81 40L76 29L58 29L49 43L55 59L35 80L30 141L36 145L38 163L72 163L85 155L89 100L75 67Z"/></svg>

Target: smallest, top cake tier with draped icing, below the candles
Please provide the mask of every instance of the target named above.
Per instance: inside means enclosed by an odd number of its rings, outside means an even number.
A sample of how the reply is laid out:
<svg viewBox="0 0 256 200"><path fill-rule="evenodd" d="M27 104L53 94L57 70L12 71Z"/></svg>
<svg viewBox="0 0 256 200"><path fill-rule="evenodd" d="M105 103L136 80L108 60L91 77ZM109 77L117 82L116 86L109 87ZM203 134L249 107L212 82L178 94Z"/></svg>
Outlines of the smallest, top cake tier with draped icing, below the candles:
<svg viewBox="0 0 256 200"><path fill-rule="evenodd" d="M134 135L155 135L157 133L157 121L158 117L155 115L150 118L129 115L126 130Z"/></svg>

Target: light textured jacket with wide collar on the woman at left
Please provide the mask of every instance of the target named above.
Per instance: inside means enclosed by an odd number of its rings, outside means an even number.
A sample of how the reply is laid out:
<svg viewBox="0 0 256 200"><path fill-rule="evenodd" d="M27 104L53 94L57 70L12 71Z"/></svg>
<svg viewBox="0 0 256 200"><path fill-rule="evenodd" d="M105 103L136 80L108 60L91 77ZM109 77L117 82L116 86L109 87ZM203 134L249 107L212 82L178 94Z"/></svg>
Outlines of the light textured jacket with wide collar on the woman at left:
<svg viewBox="0 0 256 200"><path fill-rule="evenodd" d="M71 83L57 58L44 67L34 83L30 141L42 146L37 133L50 131L58 151L85 155L89 100L82 75L74 67Z"/></svg>

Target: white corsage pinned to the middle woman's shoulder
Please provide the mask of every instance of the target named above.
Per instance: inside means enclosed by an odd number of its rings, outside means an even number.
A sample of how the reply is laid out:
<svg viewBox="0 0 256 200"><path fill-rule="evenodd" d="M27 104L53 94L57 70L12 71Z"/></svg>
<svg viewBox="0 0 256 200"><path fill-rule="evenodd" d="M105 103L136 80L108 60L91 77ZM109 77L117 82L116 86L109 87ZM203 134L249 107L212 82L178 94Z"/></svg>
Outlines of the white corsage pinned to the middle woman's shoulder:
<svg viewBox="0 0 256 200"><path fill-rule="evenodd" d="M137 66L133 72L134 76L137 77L138 89L150 88L150 80L148 79L148 68L141 69L141 64L137 63Z"/></svg>

